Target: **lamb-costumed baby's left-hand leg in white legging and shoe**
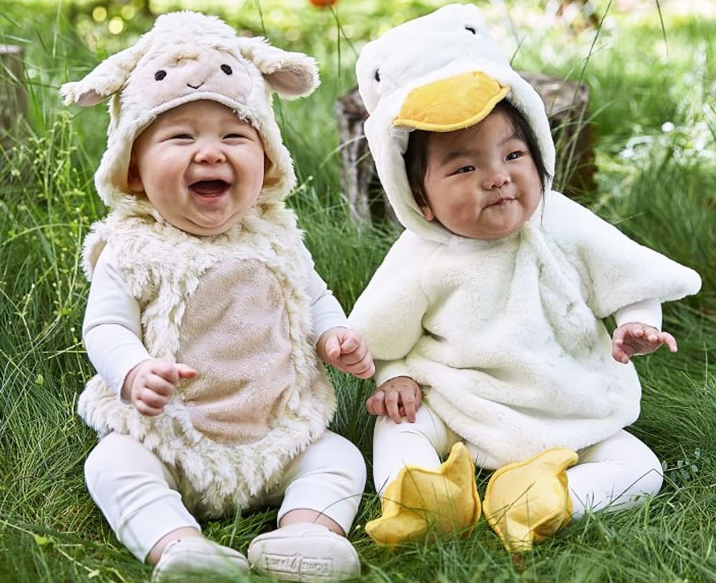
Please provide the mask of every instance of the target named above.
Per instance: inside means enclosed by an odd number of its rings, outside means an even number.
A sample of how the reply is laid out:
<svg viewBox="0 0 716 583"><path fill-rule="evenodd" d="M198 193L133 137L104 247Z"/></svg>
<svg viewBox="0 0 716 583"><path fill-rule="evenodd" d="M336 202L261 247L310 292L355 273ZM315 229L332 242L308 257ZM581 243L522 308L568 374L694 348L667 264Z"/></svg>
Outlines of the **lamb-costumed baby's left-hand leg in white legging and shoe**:
<svg viewBox="0 0 716 583"><path fill-rule="evenodd" d="M136 440L107 435L89 454L84 476L117 539L137 559L156 565L153 582L177 574L248 572L241 553L201 536L173 472Z"/></svg>

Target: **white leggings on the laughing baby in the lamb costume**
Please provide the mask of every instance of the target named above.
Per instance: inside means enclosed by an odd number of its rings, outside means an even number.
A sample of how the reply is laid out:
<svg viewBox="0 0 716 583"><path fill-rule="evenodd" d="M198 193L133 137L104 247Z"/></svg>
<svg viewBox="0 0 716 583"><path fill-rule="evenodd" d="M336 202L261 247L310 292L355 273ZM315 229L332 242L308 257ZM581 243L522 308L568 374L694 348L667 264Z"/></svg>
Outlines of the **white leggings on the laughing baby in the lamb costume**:
<svg viewBox="0 0 716 583"><path fill-rule="evenodd" d="M127 435L110 433L84 463L89 494L117 539L144 561L153 546L176 529L200 530L177 491L177 473ZM349 440L326 431L286 466L281 482L261 504L287 512L309 509L350 530L365 487L363 456Z"/></svg>

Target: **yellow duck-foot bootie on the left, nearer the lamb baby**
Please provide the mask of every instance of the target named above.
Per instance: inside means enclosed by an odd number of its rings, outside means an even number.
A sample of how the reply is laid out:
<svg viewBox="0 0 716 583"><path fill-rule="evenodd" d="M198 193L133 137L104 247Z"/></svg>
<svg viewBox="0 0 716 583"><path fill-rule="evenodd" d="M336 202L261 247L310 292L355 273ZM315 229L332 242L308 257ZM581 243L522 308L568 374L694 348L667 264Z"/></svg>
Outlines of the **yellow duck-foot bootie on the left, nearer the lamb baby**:
<svg viewBox="0 0 716 583"><path fill-rule="evenodd" d="M381 506L380 518L365 525L377 544L397 546L469 531L480 518L480 498L468 448L455 443L436 470L405 466L385 488Z"/></svg>

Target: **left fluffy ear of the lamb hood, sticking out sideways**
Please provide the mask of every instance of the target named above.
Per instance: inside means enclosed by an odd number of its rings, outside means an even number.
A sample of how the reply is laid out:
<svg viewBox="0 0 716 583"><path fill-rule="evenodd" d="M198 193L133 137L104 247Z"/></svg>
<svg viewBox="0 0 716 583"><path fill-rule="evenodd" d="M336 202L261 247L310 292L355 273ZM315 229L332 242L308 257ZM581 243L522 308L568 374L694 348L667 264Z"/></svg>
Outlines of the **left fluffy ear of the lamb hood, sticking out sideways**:
<svg viewBox="0 0 716 583"><path fill-rule="evenodd" d="M125 85L127 78L134 70L137 62L145 52L146 42L138 42L107 57L97 65L84 79L64 83L59 92L64 97L64 104L77 104L82 107L97 105L106 97L116 93Z"/></svg>

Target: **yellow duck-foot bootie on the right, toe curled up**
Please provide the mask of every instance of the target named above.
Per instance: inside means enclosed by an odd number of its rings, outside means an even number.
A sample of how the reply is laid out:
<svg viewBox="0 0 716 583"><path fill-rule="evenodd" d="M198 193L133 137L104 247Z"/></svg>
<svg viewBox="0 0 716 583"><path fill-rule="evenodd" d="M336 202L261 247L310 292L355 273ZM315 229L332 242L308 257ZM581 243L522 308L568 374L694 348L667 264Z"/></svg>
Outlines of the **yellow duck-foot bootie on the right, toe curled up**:
<svg viewBox="0 0 716 583"><path fill-rule="evenodd" d="M569 523L572 501L567 488L576 452L552 448L493 473L483 500L485 517L508 551L527 551Z"/></svg>

